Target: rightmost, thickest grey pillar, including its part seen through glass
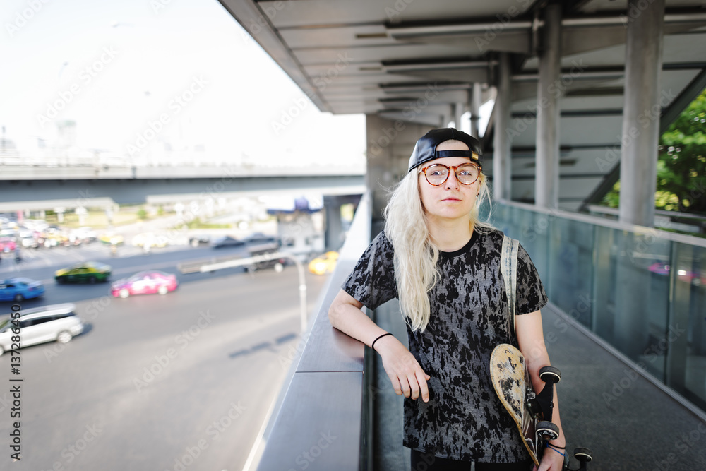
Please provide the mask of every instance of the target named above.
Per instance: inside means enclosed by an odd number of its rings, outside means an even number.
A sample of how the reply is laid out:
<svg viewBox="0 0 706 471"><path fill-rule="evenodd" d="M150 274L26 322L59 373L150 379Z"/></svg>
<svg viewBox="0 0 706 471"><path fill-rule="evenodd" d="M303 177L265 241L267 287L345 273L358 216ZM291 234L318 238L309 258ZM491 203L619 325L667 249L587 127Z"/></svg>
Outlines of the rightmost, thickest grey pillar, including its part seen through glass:
<svg viewBox="0 0 706 471"><path fill-rule="evenodd" d="M652 3L629 0L619 214L621 222L647 227L654 224L654 191L657 189L663 36L664 0ZM655 105L657 108L653 108ZM645 116L654 119L645 119ZM635 257L635 254L642 255L645 247L648 252L654 249L650 248L654 242L648 241L644 235L626 234L618 246L621 258L616 266L614 339L616 347L635 361L639 361L650 345L647 314L654 308L650 305L651 288L642 275L644 263Z"/></svg>

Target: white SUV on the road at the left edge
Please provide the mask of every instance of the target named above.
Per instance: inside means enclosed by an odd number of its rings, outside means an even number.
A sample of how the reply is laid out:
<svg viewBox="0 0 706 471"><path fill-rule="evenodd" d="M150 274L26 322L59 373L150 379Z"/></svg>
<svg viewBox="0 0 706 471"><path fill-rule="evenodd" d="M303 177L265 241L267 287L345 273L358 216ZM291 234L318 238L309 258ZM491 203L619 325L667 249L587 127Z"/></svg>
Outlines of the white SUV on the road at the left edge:
<svg viewBox="0 0 706 471"><path fill-rule="evenodd" d="M76 304L54 304L20 311L22 347L42 342L66 343L83 332L83 321L76 316ZM0 321L0 355L11 350L13 323L10 316Z"/></svg>

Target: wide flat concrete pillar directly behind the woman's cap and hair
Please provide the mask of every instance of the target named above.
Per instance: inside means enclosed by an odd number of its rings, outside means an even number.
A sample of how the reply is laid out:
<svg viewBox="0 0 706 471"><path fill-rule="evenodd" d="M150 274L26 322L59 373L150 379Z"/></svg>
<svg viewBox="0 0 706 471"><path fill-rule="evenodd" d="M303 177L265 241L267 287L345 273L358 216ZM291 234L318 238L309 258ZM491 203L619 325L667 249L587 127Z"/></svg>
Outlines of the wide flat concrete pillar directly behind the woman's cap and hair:
<svg viewBox="0 0 706 471"><path fill-rule="evenodd" d="M366 186L371 194L373 223L383 219L388 190L407 174L414 144L431 126L397 119L392 121L375 114L366 115Z"/></svg>

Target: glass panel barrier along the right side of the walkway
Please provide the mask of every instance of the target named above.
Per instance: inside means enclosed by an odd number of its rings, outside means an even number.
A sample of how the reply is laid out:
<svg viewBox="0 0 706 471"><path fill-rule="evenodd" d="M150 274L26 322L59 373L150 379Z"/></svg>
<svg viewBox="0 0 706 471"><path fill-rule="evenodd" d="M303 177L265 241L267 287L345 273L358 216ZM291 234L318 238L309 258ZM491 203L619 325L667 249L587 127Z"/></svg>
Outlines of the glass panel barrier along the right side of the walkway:
<svg viewBox="0 0 706 471"><path fill-rule="evenodd" d="M706 410L706 246L700 239L494 203L553 304Z"/></svg>

